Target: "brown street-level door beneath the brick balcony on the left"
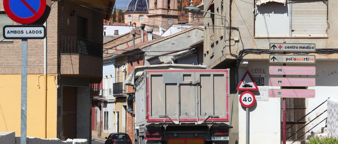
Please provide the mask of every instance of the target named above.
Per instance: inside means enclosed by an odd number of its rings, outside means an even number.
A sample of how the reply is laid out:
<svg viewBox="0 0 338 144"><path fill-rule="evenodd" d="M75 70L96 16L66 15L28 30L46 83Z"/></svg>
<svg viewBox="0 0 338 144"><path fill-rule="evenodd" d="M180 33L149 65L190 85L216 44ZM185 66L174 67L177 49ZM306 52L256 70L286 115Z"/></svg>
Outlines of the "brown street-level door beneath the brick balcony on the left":
<svg viewBox="0 0 338 144"><path fill-rule="evenodd" d="M77 88L62 88L62 139L76 139Z"/></svg>

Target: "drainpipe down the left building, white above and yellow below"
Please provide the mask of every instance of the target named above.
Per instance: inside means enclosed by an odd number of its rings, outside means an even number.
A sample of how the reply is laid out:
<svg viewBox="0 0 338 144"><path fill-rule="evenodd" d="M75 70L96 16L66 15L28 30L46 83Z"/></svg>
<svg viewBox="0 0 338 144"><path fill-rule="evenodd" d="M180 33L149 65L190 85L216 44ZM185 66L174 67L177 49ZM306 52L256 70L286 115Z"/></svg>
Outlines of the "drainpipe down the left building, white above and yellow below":
<svg viewBox="0 0 338 144"><path fill-rule="evenodd" d="M46 29L47 29L47 21L43 24ZM44 88L45 88L45 93L44 93L44 98L46 98L46 102L45 102L45 107L46 107L46 123L45 123L45 130L46 130L46 139L47 139L47 36L44 38L43 40L44 45L43 45L43 50L44 50L44 56L43 56L43 64L44 64L44 69L43 69L43 75L44 75Z"/></svg>

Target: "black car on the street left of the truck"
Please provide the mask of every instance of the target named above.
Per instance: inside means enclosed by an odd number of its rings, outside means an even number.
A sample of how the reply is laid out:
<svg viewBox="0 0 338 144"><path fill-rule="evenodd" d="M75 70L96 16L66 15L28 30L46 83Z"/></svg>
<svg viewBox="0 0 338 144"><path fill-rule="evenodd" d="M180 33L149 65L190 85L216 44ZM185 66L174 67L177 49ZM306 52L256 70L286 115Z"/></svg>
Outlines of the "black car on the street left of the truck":
<svg viewBox="0 0 338 144"><path fill-rule="evenodd" d="M132 144L127 133L111 133L104 144Z"/></svg>

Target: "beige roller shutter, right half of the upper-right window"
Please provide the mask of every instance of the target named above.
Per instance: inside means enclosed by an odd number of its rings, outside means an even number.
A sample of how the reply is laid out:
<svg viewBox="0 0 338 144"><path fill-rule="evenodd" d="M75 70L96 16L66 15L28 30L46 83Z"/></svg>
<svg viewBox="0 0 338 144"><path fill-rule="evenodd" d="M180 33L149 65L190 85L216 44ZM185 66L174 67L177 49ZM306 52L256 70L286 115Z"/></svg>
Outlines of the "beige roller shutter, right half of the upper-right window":
<svg viewBox="0 0 338 144"><path fill-rule="evenodd" d="M292 0L292 36L328 36L327 0Z"/></svg>

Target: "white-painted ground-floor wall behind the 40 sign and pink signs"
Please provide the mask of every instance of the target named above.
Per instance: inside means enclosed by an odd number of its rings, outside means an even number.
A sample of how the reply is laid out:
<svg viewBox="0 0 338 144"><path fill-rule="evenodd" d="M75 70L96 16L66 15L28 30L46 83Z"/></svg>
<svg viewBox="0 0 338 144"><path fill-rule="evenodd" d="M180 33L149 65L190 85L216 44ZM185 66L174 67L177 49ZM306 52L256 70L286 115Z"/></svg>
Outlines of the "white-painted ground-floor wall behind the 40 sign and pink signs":
<svg viewBox="0 0 338 144"><path fill-rule="evenodd" d="M319 104L327 100L329 97L338 98L338 67L336 61L317 60L316 64L287 64L287 66L315 66L316 75L312 76L287 76L287 77L308 77L316 78L316 86L308 87L308 89L315 89L315 98L306 99L306 113L312 111ZM268 86L269 77L282 77L283 75L269 75L269 66L282 66L282 64L270 64L267 60L249 60L247 66L240 66L238 72L238 82L242 79L247 69L266 69L266 77L264 77L264 87L277 88L279 86ZM258 86L261 87L261 86ZM240 92L239 92L240 94ZM235 105L235 104L234 104ZM245 144L245 109L238 106L238 144ZM306 117L307 122L318 116L327 109L327 104L323 104L314 112ZM268 101L257 101L257 104L249 108L250 111L250 144L273 143L279 144L281 142L281 99L268 98ZM323 113L317 119L312 121L305 131L310 130L317 123L327 117L327 113ZM234 123L234 122L233 122ZM317 125L313 131L314 133L321 133L321 128L325 127L325 121ZM310 132L311 132L310 131ZM306 135L305 135L306 136Z"/></svg>

